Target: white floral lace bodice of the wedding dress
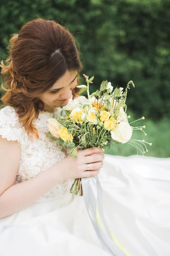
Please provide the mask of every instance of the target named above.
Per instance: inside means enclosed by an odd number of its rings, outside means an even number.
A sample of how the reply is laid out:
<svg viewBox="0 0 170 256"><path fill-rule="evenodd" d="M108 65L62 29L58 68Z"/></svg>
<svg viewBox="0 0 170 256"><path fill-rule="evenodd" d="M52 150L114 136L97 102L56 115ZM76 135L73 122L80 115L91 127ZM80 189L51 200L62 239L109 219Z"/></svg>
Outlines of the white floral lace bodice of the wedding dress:
<svg viewBox="0 0 170 256"><path fill-rule="evenodd" d="M17 140L20 143L21 159L15 183L20 183L39 175L65 157L62 147L58 143L51 142L46 135L49 131L47 119L59 116L60 112L61 108L57 108L54 113L39 111L38 119L34 120L40 136L36 140L33 135L28 134L22 122L18 120L18 115L14 108L6 106L0 110L0 135L3 138L7 138L7 140ZM59 197L68 193L73 182L73 179L68 179L57 184L54 189L43 195L42 198Z"/></svg>

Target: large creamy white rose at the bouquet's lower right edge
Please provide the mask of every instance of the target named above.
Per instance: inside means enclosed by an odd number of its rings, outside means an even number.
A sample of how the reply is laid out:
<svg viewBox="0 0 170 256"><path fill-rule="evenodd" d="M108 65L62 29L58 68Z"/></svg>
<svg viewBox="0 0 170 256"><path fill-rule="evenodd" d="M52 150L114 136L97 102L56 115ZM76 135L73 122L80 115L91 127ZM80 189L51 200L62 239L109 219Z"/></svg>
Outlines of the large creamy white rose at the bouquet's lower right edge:
<svg viewBox="0 0 170 256"><path fill-rule="evenodd" d="M115 130L111 130L111 137L120 143L127 143L132 137L132 127L128 122L120 122Z"/></svg>

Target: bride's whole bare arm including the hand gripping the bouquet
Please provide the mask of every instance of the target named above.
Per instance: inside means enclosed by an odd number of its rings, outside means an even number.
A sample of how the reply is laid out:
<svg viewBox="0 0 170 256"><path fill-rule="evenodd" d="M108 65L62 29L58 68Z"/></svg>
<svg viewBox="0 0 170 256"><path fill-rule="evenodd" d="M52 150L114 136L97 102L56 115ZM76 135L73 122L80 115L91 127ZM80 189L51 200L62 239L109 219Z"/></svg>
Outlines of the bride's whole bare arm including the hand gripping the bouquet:
<svg viewBox="0 0 170 256"><path fill-rule="evenodd" d="M36 177L14 184L20 164L20 143L0 138L0 218L28 207L64 180L97 175L104 159L101 153L102 148L80 150L77 158L65 157Z"/></svg>

